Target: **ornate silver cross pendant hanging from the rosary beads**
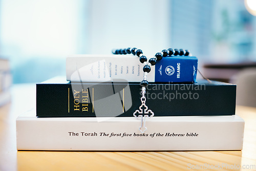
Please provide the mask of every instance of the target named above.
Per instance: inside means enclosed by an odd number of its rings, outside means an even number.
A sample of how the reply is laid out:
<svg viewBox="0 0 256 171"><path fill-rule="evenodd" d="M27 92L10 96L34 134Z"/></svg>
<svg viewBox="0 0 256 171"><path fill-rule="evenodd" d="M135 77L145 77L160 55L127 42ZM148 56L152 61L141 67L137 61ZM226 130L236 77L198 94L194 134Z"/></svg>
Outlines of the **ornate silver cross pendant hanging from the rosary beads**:
<svg viewBox="0 0 256 171"><path fill-rule="evenodd" d="M145 93L146 93L146 88L142 88L142 97L140 98L141 100L141 105L139 107L139 110L136 110L133 113L133 116L136 118L141 117L141 126L139 127L139 130L141 133L144 133L147 128L146 128L146 121L145 121L145 117L151 118L154 116L154 112L152 112L150 109L147 108L145 102L146 102L146 97L145 97Z"/></svg>

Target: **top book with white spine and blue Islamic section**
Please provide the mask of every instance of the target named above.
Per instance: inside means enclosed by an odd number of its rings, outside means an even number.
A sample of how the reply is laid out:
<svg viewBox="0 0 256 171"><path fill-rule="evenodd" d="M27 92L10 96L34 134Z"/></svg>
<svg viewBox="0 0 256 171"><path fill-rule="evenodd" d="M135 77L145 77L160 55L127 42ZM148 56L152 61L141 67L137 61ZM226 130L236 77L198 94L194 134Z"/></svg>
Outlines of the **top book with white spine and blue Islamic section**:
<svg viewBox="0 0 256 171"><path fill-rule="evenodd" d="M198 59L194 56L164 57L151 67L150 82L195 82ZM130 55L67 57L66 74L69 81L140 82L143 63Z"/></svg>

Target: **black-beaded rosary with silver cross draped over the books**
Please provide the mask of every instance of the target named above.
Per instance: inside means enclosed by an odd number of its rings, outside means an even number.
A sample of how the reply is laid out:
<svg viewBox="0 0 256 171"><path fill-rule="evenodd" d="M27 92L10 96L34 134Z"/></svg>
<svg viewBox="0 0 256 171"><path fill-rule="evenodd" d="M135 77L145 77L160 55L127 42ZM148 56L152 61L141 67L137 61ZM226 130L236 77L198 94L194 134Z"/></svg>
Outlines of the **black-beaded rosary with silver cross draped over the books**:
<svg viewBox="0 0 256 171"><path fill-rule="evenodd" d="M183 50L183 49L168 49L168 50L162 50L161 53L156 53L155 57L151 58L150 60L148 60L147 62L147 58L146 56L143 55L142 50L137 49L137 48L127 48L127 49L117 49L117 50L113 50L112 51L113 54L120 54L120 55L126 55L126 54L133 54L136 55L140 58L140 62L144 64L143 67L143 80L140 82L140 86L142 87L142 91L141 91L141 105L139 107L139 110L136 110L133 113L133 116L136 118L141 117L141 126L139 127L139 130L141 133L144 133L147 128L145 126L145 117L151 118L154 116L154 112L152 112L150 109L147 108L145 102L146 102L146 87L148 85L148 81L147 81L147 74L151 71L151 66L156 65L156 62L158 60L161 60L163 57L166 56L188 56L189 55L189 50Z"/></svg>

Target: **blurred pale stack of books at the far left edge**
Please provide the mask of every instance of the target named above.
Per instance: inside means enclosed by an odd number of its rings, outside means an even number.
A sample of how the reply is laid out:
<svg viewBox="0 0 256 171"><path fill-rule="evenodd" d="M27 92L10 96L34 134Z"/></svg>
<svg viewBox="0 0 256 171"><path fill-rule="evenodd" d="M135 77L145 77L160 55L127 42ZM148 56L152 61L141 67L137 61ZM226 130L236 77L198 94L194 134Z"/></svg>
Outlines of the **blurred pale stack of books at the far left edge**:
<svg viewBox="0 0 256 171"><path fill-rule="evenodd" d="M11 100L12 75L9 59L0 58L0 106Z"/></svg>

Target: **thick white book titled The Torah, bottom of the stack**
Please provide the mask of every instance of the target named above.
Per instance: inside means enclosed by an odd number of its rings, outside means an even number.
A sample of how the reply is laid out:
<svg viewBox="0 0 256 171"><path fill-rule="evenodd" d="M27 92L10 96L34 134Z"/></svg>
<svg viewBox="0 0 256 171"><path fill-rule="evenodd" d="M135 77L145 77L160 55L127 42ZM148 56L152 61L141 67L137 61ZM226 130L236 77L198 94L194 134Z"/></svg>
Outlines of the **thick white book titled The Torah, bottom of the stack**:
<svg viewBox="0 0 256 171"><path fill-rule="evenodd" d="M231 116L172 116L140 119L37 118L29 111L16 119L18 150L203 151L241 150L244 120Z"/></svg>

